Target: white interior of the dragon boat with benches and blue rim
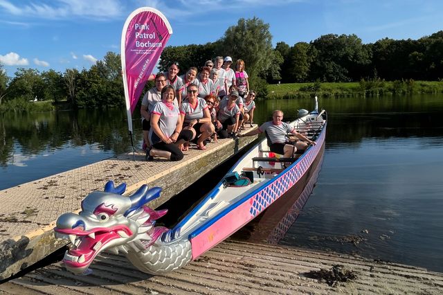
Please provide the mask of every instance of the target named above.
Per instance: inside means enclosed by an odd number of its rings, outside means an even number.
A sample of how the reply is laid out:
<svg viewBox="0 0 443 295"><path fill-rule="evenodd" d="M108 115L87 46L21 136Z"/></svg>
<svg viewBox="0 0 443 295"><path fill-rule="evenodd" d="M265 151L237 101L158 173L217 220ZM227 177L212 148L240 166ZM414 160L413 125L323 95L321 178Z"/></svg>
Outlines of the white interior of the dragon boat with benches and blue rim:
<svg viewBox="0 0 443 295"><path fill-rule="evenodd" d="M320 114L308 114L294 120L290 124L297 132L315 141L326 122L325 111ZM310 146L307 147L309 150ZM271 181L278 174L287 170L298 161L307 150L296 151L292 158L282 158L269 150L266 138L246 152L230 173L197 205L177 226L162 237L163 242L171 242L178 238L188 238L201 226L213 218L218 218L223 211L238 206L239 201L255 194L262 184Z"/></svg>

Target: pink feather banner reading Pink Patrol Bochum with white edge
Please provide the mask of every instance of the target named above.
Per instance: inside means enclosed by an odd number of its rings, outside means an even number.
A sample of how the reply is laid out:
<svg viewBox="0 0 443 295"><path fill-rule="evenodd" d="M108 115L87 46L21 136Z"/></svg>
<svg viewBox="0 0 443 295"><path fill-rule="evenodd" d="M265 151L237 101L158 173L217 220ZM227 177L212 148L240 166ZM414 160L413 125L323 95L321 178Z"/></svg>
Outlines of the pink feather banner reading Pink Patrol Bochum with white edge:
<svg viewBox="0 0 443 295"><path fill-rule="evenodd" d="M121 59L130 134L132 112L171 35L168 19L150 7L134 10L123 26Z"/></svg>

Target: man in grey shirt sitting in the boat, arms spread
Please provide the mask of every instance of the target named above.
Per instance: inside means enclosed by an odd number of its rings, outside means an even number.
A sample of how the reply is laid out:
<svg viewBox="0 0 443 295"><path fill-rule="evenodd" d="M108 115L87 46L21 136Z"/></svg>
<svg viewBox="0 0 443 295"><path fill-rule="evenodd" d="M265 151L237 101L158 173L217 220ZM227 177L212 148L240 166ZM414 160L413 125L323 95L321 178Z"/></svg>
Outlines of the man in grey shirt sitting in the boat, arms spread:
<svg viewBox="0 0 443 295"><path fill-rule="evenodd" d="M266 132L269 139L269 150L276 154L282 154L284 158L293 157L297 150L306 150L308 144L316 145L315 141L309 140L303 134L300 134L288 123L283 122L283 112L280 109L276 109L272 113L272 120L263 123L258 129L247 132L246 134L239 134L238 137L252 136ZM296 141L296 143L289 142L287 134L293 134L300 138L302 141ZM303 142L304 141L304 142Z"/></svg>

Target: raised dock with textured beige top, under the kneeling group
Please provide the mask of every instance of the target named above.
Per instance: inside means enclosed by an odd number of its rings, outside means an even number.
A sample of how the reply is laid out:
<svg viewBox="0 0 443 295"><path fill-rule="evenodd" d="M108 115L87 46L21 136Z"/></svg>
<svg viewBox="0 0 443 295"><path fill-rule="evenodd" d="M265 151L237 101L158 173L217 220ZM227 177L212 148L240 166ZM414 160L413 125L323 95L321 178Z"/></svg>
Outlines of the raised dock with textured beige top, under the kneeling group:
<svg viewBox="0 0 443 295"><path fill-rule="evenodd" d="M218 143L208 143L204 152L191 147L179 162L147 162L144 152L136 152L134 161L130 152L0 190L0 280L63 247L66 241L54 237L55 220L63 213L80 211L82 199L94 190L103 190L107 181L113 180L117 185L125 182L126 194L143 184L160 186L161 197L150 203L150 207L156 208L255 138L219 139Z"/></svg>

